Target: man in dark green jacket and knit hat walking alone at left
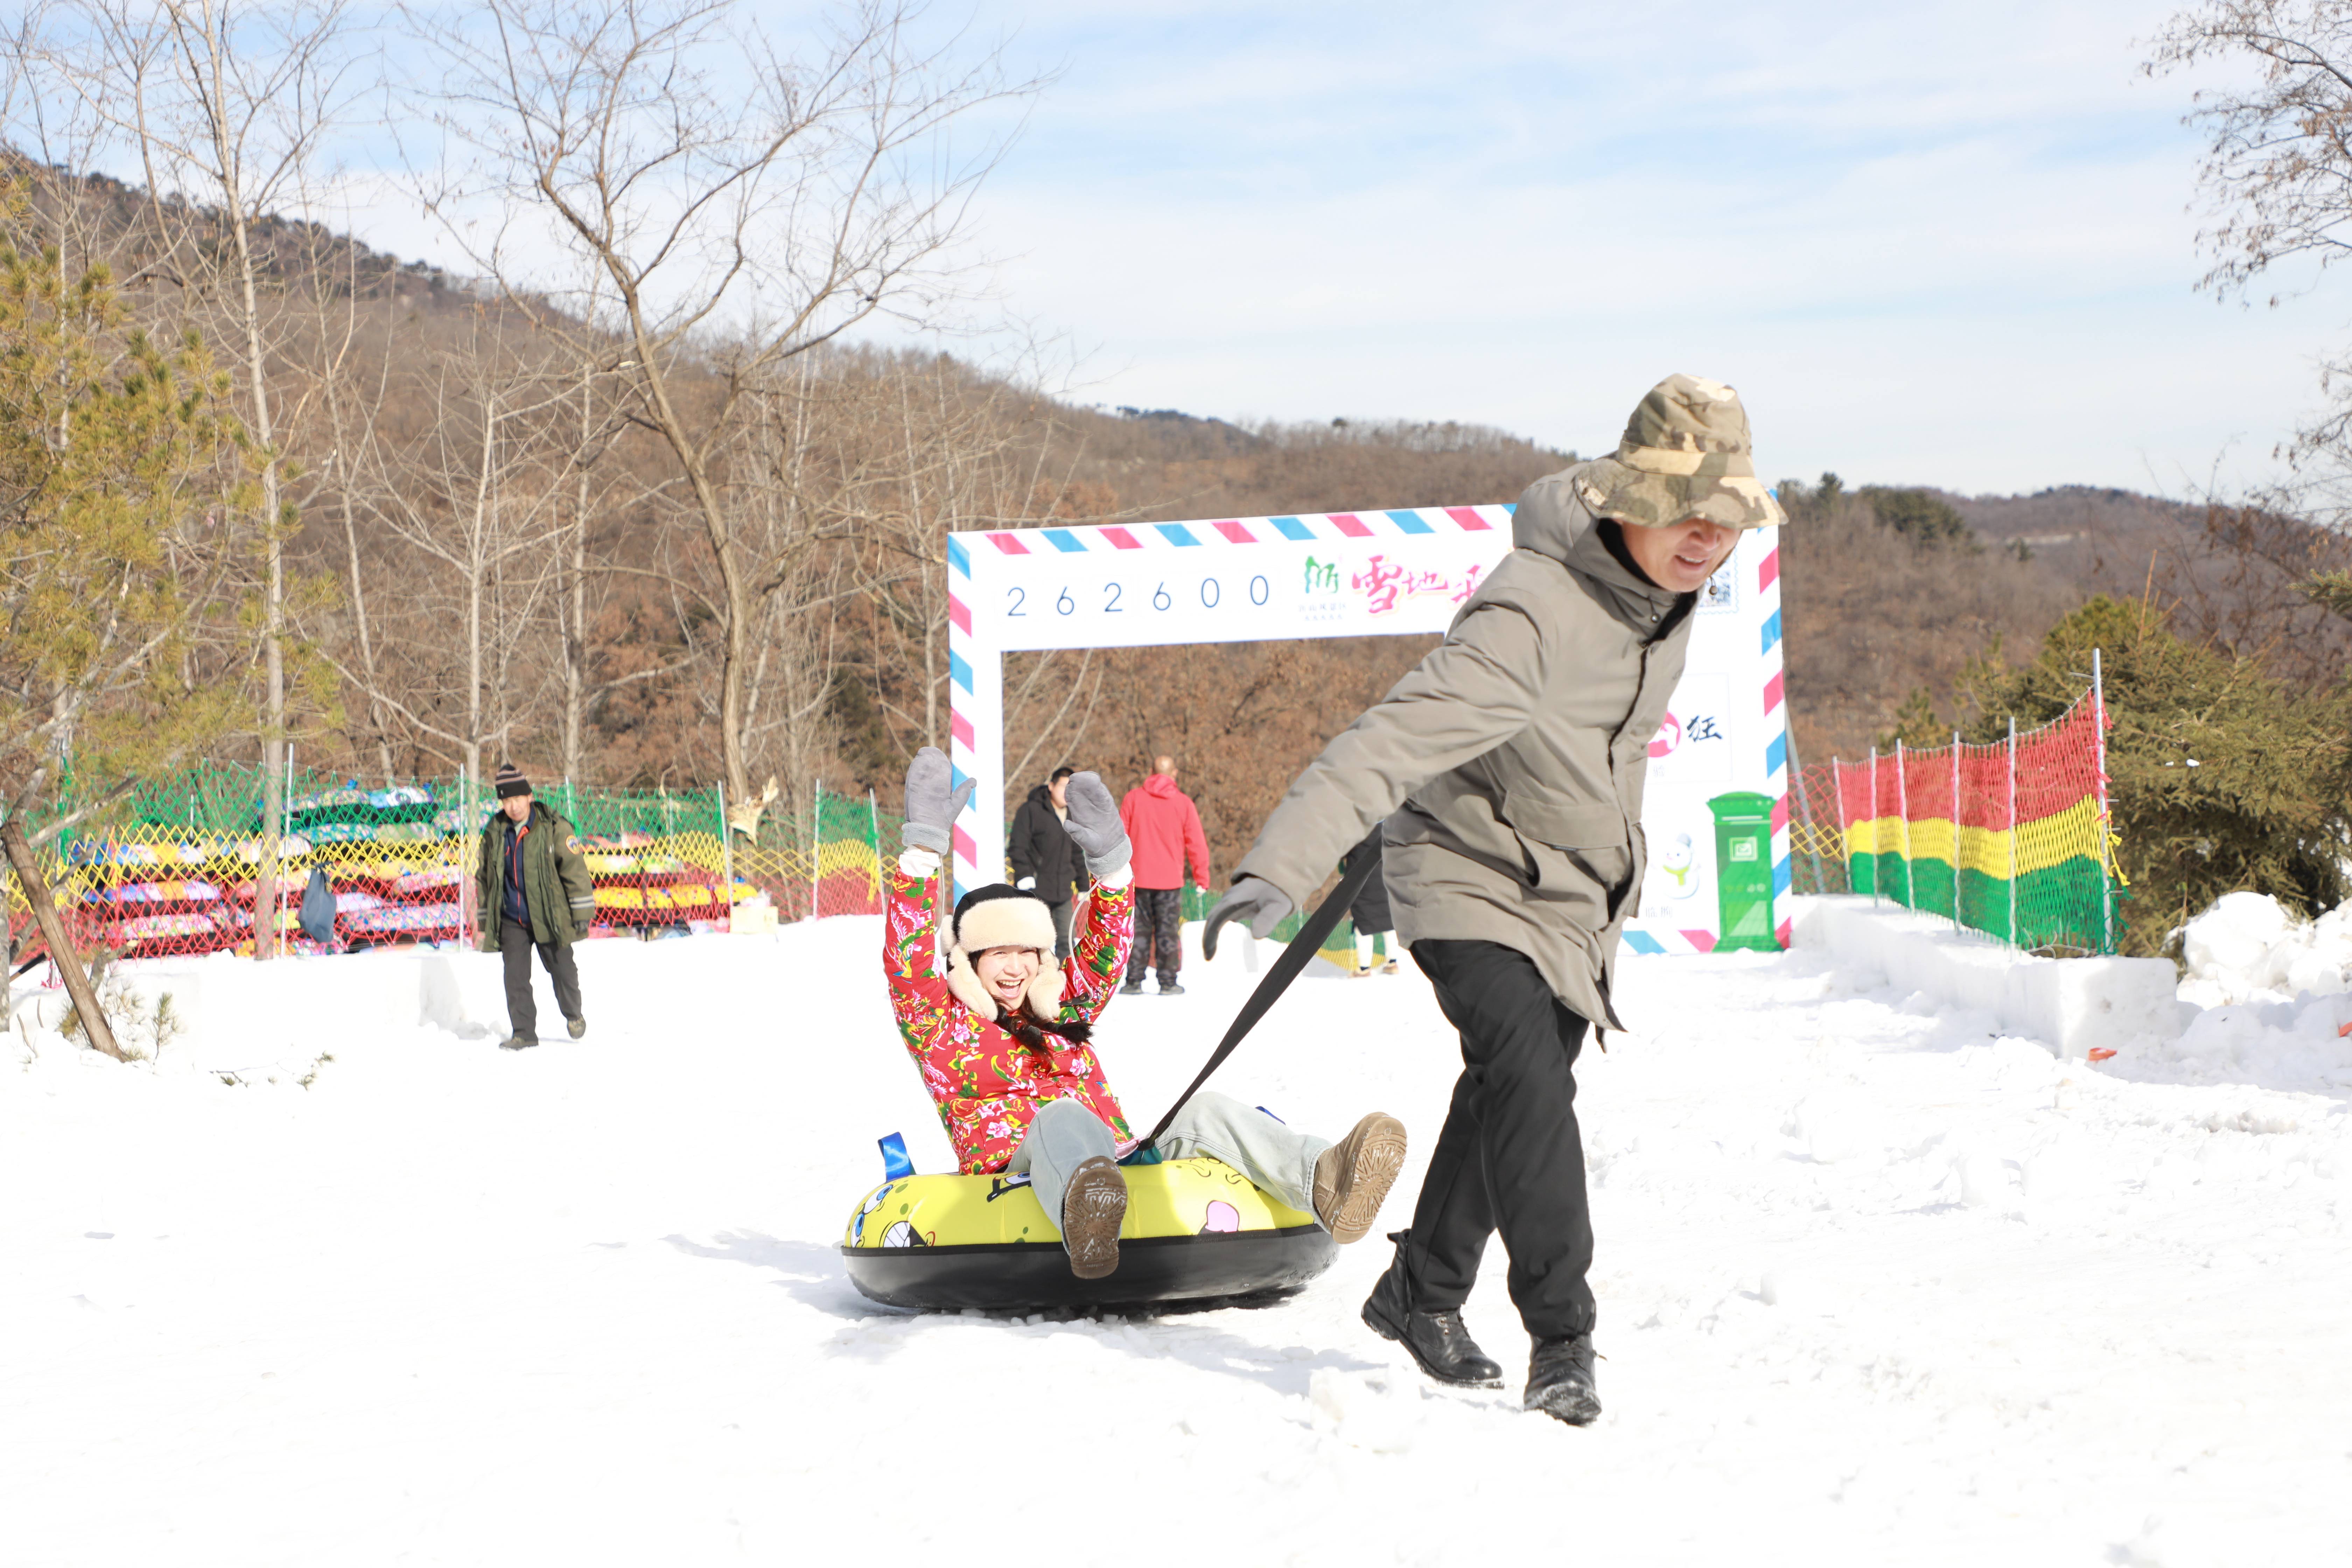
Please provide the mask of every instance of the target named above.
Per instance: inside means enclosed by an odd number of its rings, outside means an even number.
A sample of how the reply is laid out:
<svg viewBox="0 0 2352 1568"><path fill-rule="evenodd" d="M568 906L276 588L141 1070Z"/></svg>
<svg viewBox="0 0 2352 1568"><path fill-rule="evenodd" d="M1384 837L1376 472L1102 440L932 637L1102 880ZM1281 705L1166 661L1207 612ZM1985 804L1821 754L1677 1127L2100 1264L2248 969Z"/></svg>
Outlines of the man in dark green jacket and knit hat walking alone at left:
<svg viewBox="0 0 2352 1568"><path fill-rule="evenodd" d="M506 1051L539 1044L532 1001L532 947L555 980L555 1006L572 1039L588 1032L572 943L595 919L595 884L572 846L572 823L532 799L532 780L513 762L499 766L499 811L482 827L482 952L506 959Z"/></svg>

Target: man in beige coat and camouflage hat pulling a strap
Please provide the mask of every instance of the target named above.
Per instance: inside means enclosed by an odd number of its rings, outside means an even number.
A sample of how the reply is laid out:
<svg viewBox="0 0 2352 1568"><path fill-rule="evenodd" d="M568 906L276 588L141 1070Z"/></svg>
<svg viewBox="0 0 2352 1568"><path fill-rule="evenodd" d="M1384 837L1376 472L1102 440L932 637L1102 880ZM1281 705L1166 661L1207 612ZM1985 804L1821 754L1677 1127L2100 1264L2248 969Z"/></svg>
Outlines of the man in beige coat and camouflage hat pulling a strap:
<svg viewBox="0 0 2352 1568"><path fill-rule="evenodd" d="M1609 458L1536 480L1503 564L1446 639L1324 748L1209 912L1258 936L1371 823L1397 936L1461 1032L1463 1074L1364 1321L1442 1382L1498 1387L1463 1328L1486 1239L1534 1338L1526 1406L1599 1415L1592 1222L1576 1056L1609 1004L1642 889L1649 741L1682 679L1698 590L1740 529L1778 524L1748 411L1719 381L1668 376Z"/></svg>

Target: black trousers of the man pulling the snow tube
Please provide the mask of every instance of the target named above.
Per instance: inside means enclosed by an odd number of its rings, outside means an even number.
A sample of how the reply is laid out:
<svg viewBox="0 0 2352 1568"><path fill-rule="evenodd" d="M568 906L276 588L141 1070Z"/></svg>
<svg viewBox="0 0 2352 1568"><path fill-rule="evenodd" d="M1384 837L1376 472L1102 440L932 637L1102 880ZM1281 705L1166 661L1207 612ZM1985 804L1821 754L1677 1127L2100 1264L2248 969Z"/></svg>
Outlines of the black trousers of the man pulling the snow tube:
<svg viewBox="0 0 2352 1568"><path fill-rule="evenodd" d="M1404 1241L1414 1307L1470 1300L1486 1237L1501 1229L1526 1331L1592 1333L1592 1211L1576 1131L1588 1025L1534 959L1501 943L1414 943L1414 961L1463 1037L1463 1074Z"/></svg>

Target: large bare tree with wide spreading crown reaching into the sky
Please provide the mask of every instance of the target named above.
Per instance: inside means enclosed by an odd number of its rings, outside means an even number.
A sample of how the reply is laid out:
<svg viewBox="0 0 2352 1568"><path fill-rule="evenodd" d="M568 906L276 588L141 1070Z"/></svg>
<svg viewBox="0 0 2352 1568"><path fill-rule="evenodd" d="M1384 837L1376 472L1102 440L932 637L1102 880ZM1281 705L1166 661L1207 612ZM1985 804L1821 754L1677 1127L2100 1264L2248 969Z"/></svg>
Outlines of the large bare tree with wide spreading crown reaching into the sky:
<svg viewBox="0 0 2352 1568"><path fill-rule="evenodd" d="M889 0L840 12L807 56L734 26L729 0L487 0L412 19L437 45L442 125L473 155L428 205L461 242L485 190L543 223L501 223L475 263L609 371L677 465L715 574L727 788L748 795L760 592L724 491L755 390L858 322L941 310L967 202L1002 148L983 136L957 155L948 127L1035 82L1007 82L993 52L957 63L960 40L924 49ZM532 240L593 268L609 310L550 296Z"/></svg>

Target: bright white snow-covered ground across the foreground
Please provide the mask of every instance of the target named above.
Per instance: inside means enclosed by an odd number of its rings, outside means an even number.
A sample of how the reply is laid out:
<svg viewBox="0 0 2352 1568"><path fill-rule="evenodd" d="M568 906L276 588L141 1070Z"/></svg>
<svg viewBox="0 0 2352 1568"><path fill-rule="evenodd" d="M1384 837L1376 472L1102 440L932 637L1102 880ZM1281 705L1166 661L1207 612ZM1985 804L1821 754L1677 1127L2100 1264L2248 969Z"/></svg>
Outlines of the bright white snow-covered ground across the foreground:
<svg viewBox="0 0 2352 1568"><path fill-rule="evenodd" d="M14 1032L0 1561L2352 1561L2352 997L2260 1072L2084 1067L1816 952L1628 961L1576 1432L1517 1408L1501 1248L1498 1394L1357 1324L1378 1239L1270 1309L858 1298L875 1138L948 1164L877 940L595 943L590 1037L522 1056L470 957L470 1023L256 1016L294 1044L230 1081ZM1143 1119L1251 983L1185 978L1103 1027ZM1218 1086L1425 1157L1454 1065L1406 966L1303 980Z"/></svg>

